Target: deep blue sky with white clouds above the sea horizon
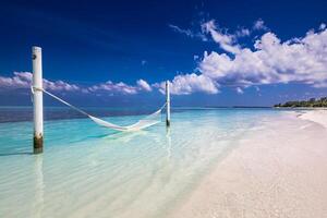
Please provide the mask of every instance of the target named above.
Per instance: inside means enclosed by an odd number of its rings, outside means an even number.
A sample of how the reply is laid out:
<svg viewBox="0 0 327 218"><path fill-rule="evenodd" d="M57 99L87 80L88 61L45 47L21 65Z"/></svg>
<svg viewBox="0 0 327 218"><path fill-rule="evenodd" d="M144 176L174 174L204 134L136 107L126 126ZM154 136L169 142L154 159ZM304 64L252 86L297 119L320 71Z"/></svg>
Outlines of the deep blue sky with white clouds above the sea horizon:
<svg viewBox="0 0 327 218"><path fill-rule="evenodd" d="M1 1L0 106L271 106L327 96L327 1ZM58 105L45 97L46 105Z"/></svg>

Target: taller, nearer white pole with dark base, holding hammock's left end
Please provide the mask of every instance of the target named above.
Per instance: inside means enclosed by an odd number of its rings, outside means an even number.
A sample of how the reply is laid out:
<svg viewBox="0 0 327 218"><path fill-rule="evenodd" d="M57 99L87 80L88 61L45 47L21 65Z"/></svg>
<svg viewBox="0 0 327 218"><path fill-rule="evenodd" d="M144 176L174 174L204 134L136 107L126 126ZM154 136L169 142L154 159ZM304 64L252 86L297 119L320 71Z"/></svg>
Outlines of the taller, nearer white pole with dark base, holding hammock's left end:
<svg viewBox="0 0 327 218"><path fill-rule="evenodd" d="M44 150L44 99L43 99L43 53L40 47L32 48L33 102L34 102L34 154Z"/></svg>

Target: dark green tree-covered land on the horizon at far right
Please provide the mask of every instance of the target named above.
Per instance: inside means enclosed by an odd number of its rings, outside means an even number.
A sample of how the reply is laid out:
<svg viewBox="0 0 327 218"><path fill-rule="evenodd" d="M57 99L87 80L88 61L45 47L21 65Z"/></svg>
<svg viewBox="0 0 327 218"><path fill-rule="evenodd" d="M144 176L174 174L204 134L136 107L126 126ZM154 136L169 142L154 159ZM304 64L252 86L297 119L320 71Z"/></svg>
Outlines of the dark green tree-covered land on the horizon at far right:
<svg viewBox="0 0 327 218"><path fill-rule="evenodd" d="M327 107L327 97L320 99L311 98L308 100L292 100L284 104L277 104L276 108L312 108L312 107Z"/></svg>

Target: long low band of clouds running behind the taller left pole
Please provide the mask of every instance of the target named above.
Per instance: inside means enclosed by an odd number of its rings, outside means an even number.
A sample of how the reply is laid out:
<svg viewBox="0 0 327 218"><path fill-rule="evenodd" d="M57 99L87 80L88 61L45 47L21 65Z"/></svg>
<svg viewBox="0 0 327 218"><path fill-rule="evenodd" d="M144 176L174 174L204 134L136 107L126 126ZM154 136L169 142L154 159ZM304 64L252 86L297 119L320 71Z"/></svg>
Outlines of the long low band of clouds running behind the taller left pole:
<svg viewBox="0 0 327 218"><path fill-rule="evenodd" d="M16 88L29 88L32 85L33 75L31 72L14 72L11 77L0 76L0 90L1 89L16 89ZM76 84L70 84L63 81L49 81L44 78L44 88L55 92L82 92L82 93L95 93L95 92L110 92L125 95L137 94L138 92L150 92L152 87L144 80L138 80L135 86L128 85L125 83L113 83L108 81L106 83L96 84L93 86L81 86Z"/></svg>

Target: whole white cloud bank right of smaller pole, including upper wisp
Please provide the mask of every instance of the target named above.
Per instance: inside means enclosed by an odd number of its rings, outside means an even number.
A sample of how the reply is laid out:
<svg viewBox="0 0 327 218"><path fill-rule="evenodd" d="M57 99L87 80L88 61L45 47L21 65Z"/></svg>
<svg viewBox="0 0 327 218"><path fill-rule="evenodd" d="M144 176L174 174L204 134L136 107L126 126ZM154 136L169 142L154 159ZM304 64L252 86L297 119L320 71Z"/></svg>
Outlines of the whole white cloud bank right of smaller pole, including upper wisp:
<svg viewBox="0 0 327 218"><path fill-rule="evenodd" d="M232 36L223 35L213 22L206 23L205 28L226 52L205 51L197 74L177 75L173 78L174 94L215 94L221 86L232 86L241 93L244 87L278 83L327 87L325 27L286 41L268 32L254 43L253 49L235 44Z"/></svg>

